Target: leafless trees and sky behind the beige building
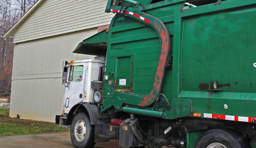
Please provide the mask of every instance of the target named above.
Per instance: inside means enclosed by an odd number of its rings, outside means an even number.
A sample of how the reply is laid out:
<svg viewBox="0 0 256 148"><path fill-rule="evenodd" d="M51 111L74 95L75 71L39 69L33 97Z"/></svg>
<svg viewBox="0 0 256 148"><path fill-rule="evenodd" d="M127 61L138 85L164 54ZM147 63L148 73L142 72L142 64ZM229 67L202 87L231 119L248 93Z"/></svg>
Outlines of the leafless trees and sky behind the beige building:
<svg viewBox="0 0 256 148"><path fill-rule="evenodd" d="M10 90L14 44L2 36L26 13L36 0L0 0L0 90Z"/></svg>

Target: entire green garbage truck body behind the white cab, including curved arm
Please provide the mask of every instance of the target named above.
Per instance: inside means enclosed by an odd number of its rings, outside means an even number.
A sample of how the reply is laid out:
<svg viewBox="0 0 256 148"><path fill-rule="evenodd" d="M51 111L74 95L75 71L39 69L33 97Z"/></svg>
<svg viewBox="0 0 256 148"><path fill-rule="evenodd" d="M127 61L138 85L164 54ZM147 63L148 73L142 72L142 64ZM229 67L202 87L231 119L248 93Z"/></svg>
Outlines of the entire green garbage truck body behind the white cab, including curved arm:
<svg viewBox="0 0 256 148"><path fill-rule="evenodd" d="M205 131L222 127L242 133L253 145L256 1L155 2L109 0L106 12L117 14L108 30L73 51L106 57L99 111L161 123L197 122L186 128L195 130L186 133L190 148Z"/></svg>

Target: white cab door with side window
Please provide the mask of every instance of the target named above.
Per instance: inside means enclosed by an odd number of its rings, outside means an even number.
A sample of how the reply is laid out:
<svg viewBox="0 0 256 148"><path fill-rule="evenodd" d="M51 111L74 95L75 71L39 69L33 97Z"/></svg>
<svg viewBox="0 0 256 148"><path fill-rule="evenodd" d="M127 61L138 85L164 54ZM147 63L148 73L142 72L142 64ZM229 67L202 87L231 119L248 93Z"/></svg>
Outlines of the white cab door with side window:
<svg viewBox="0 0 256 148"><path fill-rule="evenodd" d="M68 113L77 103L83 101L86 63L70 64L68 74L68 86L65 87L63 112Z"/></svg>

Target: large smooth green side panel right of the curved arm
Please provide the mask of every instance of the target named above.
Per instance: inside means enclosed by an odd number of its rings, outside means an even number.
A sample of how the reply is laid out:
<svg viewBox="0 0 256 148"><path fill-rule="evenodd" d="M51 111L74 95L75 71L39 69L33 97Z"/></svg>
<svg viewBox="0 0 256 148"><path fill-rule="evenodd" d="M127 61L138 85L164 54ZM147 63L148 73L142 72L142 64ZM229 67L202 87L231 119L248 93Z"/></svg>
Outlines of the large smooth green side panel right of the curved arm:
<svg viewBox="0 0 256 148"><path fill-rule="evenodd" d="M247 6L241 7L244 5ZM175 19L181 23L178 26L174 20L177 28L174 28L173 98L190 99L193 112L200 112L202 117L204 113L256 117L253 107L256 69L252 56L256 32L251 29L256 27L255 6L255 1L241 5L234 0L186 11L176 9ZM212 81L217 81L222 88L220 92L207 91Z"/></svg>

